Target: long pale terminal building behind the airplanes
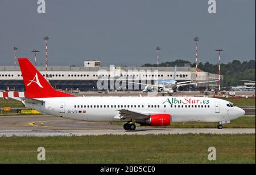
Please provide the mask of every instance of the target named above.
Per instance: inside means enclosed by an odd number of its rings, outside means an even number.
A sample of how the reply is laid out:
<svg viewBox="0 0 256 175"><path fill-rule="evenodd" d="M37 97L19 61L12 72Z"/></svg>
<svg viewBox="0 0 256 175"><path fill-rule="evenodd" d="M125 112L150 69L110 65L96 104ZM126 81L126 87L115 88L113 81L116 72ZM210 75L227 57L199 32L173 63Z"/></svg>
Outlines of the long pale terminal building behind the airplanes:
<svg viewBox="0 0 256 175"><path fill-rule="evenodd" d="M56 89L79 89L80 91L97 91L98 80L112 80L116 82L139 82L154 83L158 79L173 79L177 82L188 80L196 80L196 69L190 65L177 67L176 75L174 75L174 67L133 67L133 66L101 66L100 61L85 61L84 66L48 66L47 72L45 67L37 66L41 74L49 80L52 87ZM218 80L218 74L204 72L197 73L198 82L210 80ZM221 81L223 76L221 75ZM109 83L111 84L111 83ZM218 82L197 84L198 88L217 87ZM133 85L134 86L134 85ZM110 87L109 89L127 90L126 88ZM195 86L186 86L183 90L195 89ZM139 90L144 86L139 85ZM0 91L24 91L22 74L19 66L0 66ZM105 89L100 89L105 90ZM130 89L134 90L134 89ZM138 89L137 89L138 90ZM182 89L180 89L182 90Z"/></svg>

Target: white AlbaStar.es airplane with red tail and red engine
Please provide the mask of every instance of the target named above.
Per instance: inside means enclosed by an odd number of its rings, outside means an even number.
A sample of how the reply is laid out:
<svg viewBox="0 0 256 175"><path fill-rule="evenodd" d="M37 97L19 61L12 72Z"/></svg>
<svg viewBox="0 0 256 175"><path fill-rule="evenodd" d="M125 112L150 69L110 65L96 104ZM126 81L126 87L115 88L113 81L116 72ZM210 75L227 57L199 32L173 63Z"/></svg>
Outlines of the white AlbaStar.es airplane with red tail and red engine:
<svg viewBox="0 0 256 175"><path fill-rule="evenodd" d="M168 126L172 122L218 122L241 117L245 111L226 100L209 97L79 97L55 90L27 58L19 58L26 108L57 117L93 122L126 122L125 130ZM1 95L0 95L1 96Z"/></svg>

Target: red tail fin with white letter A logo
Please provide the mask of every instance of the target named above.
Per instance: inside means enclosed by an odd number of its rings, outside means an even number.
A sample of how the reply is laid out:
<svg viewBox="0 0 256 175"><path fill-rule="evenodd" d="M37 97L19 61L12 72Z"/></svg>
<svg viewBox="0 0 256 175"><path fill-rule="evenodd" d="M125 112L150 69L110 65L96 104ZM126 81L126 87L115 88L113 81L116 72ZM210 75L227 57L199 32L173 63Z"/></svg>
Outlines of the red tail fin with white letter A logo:
<svg viewBox="0 0 256 175"><path fill-rule="evenodd" d="M27 58L19 58L19 66L22 72L24 86L27 91L26 97L47 98L75 96L69 93L56 91Z"/></svg>

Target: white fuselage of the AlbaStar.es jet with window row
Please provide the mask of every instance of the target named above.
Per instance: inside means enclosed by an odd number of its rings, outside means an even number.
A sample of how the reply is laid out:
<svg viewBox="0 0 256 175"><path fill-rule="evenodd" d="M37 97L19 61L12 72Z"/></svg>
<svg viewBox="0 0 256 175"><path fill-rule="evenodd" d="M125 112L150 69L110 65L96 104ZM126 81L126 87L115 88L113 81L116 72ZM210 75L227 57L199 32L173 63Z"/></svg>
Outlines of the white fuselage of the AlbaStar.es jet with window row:
<svg viewBox="0 0 256 175"><path fill-rule="evenodd" d="M152 115L170 114L171 122L220 122L243 116L229 101L209 97L54 97L45 103L26 103L27 108L53 116L95 122L124 122L119 111Z"/></svg>

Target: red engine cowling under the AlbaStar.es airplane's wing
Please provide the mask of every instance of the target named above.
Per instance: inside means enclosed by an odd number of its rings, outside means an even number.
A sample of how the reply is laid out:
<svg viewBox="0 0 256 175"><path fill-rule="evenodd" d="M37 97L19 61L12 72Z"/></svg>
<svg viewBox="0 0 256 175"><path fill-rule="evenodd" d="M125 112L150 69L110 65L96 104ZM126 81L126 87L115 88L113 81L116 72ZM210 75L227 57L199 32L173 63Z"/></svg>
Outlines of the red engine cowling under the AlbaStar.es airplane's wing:
<svg viewBox="0 0 256 175"><path fill-rule="evenodd" d="M171 124L170 114L154 114L145 122L140 123L141 126L169 126Z"/></svg>

